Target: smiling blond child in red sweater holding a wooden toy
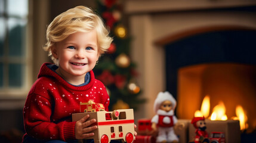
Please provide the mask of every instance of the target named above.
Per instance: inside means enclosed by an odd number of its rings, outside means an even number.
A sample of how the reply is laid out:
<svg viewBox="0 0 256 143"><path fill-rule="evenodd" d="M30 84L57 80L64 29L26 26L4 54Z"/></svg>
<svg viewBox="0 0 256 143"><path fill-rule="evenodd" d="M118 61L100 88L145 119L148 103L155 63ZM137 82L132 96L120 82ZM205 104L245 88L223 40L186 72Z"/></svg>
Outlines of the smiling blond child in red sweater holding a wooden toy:
<svg viewBox="0 0 256 143"><path fill-rule="evenodd" d="M92 69L113 41L103 21L90 8L78 6L54 18L47 29L47 43L54 64L44 63L24 105L26 134L23 142L77 142L93 136L95 119L85 116L72 122L80 102L103 104L109 95Z"/></svg>

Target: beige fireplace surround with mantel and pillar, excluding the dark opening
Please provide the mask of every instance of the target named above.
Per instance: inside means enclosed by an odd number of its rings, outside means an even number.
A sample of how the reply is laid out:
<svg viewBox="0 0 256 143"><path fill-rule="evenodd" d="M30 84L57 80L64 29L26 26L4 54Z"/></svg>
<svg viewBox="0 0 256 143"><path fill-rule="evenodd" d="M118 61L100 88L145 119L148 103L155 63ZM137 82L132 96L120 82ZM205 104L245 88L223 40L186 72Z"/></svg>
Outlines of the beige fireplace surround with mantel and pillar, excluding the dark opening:
<svg viewBox="0 0 256 143"><path fill-rule="evenodd" d="M131 58L140 73L138 84L147 102L135 113L135 120L151 119L158 92L166 90L166 44L186 36L214 30L256 29L254 1L126 1Z"/></svg>

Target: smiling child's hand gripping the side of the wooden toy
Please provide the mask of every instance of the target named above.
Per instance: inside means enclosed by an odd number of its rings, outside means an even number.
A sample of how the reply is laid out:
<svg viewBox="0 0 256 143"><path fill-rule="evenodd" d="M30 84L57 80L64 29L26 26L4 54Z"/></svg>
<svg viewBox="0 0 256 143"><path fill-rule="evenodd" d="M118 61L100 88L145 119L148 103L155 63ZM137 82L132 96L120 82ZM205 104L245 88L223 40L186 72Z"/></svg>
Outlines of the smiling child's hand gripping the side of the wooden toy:
<svg viewBox="0 0 256 143"><path fill-rule="evenodd" d="M84 139L90 136L94 136L94 133L89 133L92 130L97 129L97 126L91 126L96 122L95 119L88 120L90 115L84 116L82 119L78 120L75 125L75 138L76 139Z"/></svg>

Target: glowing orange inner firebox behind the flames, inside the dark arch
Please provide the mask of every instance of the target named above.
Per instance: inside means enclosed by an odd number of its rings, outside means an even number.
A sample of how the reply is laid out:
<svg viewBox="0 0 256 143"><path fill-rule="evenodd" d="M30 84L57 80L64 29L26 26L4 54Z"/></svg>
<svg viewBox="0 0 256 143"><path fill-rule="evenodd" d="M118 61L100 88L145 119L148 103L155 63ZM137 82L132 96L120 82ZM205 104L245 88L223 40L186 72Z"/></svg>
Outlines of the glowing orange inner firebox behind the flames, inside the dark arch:
<svg viewBox="0 0 256 143"><path fill-rule="evenodd" d="M240 105L248 117L246 128L256 128L256 66L234 63L199 64L178 70L178 117L192 119L209 97L209 118L217 105L224 106L226 119L238 117ZM207 116L206 116L207 117ZM218 119L222 120L222 119ZM242 125L241 125L242 126Z"/></svg>

